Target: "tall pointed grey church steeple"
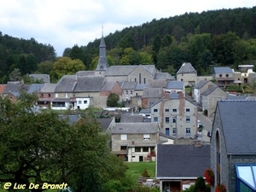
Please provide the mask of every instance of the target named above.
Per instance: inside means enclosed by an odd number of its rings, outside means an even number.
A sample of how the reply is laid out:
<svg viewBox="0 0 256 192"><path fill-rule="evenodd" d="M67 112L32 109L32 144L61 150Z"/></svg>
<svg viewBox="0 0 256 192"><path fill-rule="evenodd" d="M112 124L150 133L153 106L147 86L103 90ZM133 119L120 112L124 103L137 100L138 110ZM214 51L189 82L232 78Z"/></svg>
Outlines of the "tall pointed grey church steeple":
<svg viewBox="0 0 256 192"><path fill-rule="evenodd" d="M101 39L101 44L99 46L100 49L100 54L99 54L99 60L98 60L98 64L96 67L96 71L106 71L108 68L108 59L106 56L106 44L105 44L105 40L103 38L103 26L102 26L102 39Z"/></svg>

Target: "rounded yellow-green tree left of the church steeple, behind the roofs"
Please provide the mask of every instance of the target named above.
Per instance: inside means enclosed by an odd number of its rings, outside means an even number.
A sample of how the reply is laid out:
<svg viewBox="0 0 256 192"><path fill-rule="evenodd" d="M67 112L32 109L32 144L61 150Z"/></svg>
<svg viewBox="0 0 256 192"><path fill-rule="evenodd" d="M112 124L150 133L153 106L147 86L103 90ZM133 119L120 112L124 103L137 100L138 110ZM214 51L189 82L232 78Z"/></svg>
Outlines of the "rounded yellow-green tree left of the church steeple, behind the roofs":
<svg viewBox="0 0 256 192"><path fill-rule="evenodd" d="M69 57L59 57L53 67L57 79L60 79L63 75L74 74L82 70L85 70L84 63L80 60L72 60Z"/></svg>

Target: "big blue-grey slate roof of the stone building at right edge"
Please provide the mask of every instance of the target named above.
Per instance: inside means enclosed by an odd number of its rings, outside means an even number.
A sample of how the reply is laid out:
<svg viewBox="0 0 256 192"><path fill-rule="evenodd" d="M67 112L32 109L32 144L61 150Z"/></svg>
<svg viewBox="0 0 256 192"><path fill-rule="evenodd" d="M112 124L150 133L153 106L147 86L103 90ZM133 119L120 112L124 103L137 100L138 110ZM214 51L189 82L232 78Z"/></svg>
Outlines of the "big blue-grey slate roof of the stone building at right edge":
<svg viewBox="0 0 256 192"><path fill-rule="evenodd" d="M256 101L222 100L217 109L227 153L256 154Z"/></svg>

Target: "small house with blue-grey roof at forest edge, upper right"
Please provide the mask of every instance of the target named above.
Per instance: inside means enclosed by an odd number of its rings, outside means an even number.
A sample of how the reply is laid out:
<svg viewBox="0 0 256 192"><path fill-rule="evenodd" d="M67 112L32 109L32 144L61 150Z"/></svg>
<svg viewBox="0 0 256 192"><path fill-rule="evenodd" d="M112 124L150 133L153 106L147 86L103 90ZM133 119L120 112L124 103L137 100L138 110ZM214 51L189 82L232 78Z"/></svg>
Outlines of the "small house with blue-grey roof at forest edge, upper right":
<svg viewBox="0 0 256 192"><path fill-rule="evenodd" d="M218 86L234 84L234 71L230 67L213 67L212 79L216 80Z"/></svg>

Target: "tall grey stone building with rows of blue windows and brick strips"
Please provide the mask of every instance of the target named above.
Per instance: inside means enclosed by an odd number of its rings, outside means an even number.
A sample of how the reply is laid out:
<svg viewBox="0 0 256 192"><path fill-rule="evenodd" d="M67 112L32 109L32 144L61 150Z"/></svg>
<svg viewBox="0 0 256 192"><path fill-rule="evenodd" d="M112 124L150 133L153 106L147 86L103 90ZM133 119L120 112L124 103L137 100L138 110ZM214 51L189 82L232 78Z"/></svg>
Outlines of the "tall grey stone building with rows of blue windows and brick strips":
<svg viewBox="0 0 256 192"><path fill-rule="evenodd" d="M172 138L195 138L197 136L197 107L183 97L183 93L166 94L151 107L151 122Z"/></svg>

